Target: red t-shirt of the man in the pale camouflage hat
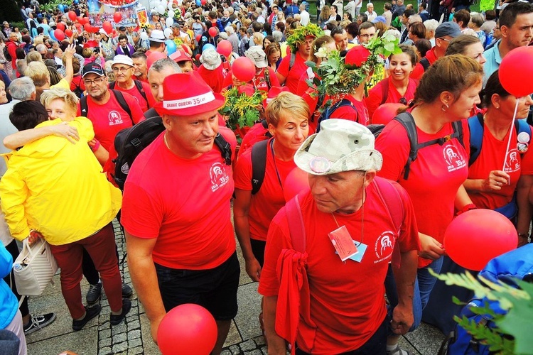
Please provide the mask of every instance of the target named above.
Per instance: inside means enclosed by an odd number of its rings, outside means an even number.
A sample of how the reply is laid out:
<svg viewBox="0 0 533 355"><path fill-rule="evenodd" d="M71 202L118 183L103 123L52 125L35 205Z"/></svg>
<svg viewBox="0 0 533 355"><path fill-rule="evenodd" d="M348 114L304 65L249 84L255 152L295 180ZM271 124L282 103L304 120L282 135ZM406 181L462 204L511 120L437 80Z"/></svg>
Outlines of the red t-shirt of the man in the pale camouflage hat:
<svg viewBox="0 0 533 355"><path fill-rule="evenodd" d="M308 253L306 269L311 295L310 313L317 326L314 330L300 318L296 342L303 351L340 354L358 349L383 322L387 313L383 297L384 280L394 244L398 241L401 251L419 249L411 201L407 193L395 185L405 208L399 237L374 183L367 187L364 208L352 214L333 214L339 226L346 226L354 241L367 245L361 262L350 259L340 261L328 237L328 233L338 229L333 215L318 211L311 192L301 198ZM361 236L363 209L365 222ZM259 281L261 295L278 295L278 257L282 249L292 248L286 210L282 208L269 228Z"/></svg>

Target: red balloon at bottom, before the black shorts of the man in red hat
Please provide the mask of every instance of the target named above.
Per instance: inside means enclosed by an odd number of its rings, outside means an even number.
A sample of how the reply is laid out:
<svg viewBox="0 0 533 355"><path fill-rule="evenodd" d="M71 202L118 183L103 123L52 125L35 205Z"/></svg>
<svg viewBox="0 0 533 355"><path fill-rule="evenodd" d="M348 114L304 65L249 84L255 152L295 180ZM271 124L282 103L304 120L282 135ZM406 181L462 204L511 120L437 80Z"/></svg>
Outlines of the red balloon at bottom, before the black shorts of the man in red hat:
<svg viewBox="0 0 533 355"><path fill-rule="evenodd" d="M217 323L204 307L186 303L168 312L157 329L163 355L210 354L217 342Z"/></svg>

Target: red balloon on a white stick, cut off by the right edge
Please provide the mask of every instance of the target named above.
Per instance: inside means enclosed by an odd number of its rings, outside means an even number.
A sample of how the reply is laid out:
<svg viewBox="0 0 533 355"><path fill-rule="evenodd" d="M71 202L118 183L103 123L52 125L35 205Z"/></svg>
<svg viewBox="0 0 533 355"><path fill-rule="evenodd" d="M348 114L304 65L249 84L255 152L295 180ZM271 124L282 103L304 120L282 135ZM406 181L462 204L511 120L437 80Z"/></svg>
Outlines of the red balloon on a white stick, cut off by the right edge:
<svg viewBox="0 0 533 355"><path fill-rule="evenodd" d="M529 65L524 65L529 63ZM502 59L498 77L502 87L515 97L533 93L533 47L519 47L511 50ZM519 80L523 78L524 80Z"/></svg>

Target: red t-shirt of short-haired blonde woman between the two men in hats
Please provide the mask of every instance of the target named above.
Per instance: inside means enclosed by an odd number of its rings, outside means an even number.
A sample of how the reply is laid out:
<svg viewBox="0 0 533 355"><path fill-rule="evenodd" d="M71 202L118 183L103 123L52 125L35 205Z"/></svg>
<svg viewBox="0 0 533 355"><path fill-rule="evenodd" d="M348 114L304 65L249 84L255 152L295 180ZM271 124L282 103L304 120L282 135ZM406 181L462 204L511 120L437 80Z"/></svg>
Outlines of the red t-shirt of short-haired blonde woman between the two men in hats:
<svg viewBox="0 0 533 355"><path fill-rule="evenodd" d="M263 184L257 194L252 195L252 202L249 207L250 237L260 241L266 241L270 222L279 209L285 205L282 185L287 175L296 168L294 160L284 161L272 155L270 148L272 139L269 140L266 148L266 168ZM275 163L274 159L276 160ZM235 188L252 191L252 149L248 149L237 160L237 165L235 165Z"/></svg>

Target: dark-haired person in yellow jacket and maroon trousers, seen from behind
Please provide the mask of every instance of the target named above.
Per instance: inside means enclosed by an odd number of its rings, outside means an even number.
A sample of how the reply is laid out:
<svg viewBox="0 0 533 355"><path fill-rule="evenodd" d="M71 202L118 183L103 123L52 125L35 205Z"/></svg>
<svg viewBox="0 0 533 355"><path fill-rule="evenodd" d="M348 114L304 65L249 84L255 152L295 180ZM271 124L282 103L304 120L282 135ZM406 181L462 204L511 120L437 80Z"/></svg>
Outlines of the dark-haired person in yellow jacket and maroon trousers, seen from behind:
<svg viewBox="0 0 533 355"><path fill-rule="evenodd" d="M64 106L65 114L75 115ZM48 121L46 109L33 101L16 104L10 119L19 131L62 124L60 119ZM82 249L90 253L102 278L111 324L124 320L131 302L122 300L111 224L122 204L121 193L107 181L87 146L94 138L91 122L75 117L68 125L77 130L79 141L74 144L45 136L10 153L8 170L0 181L0 200L14 238L23 240L32 234L50 244L61 268L61 291L72 329L77 331L101 309L82 304Z"/></svg>

